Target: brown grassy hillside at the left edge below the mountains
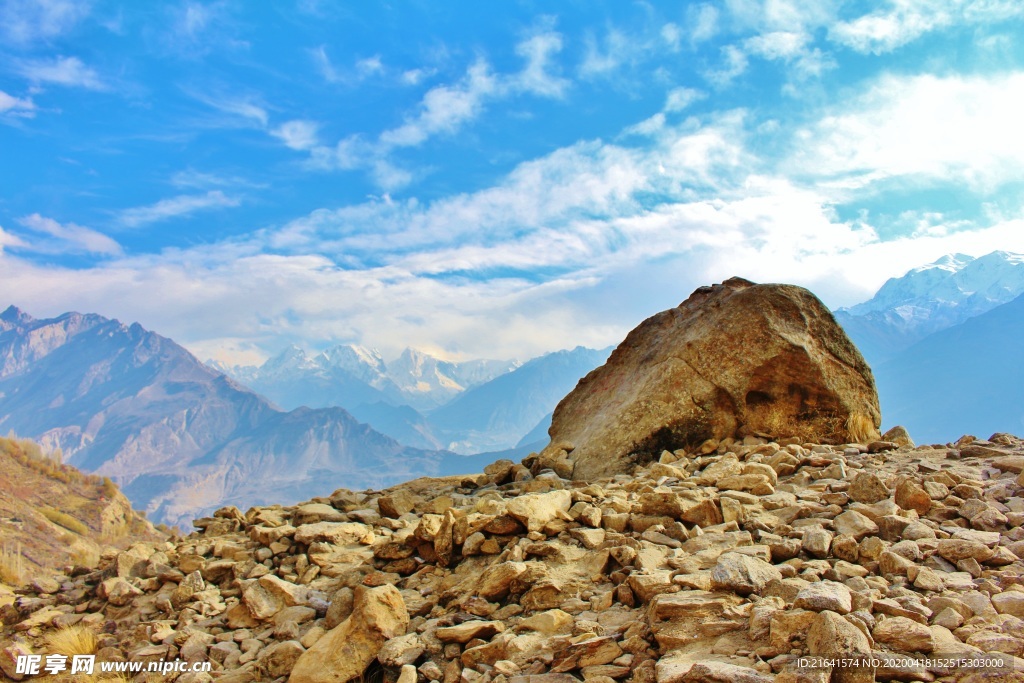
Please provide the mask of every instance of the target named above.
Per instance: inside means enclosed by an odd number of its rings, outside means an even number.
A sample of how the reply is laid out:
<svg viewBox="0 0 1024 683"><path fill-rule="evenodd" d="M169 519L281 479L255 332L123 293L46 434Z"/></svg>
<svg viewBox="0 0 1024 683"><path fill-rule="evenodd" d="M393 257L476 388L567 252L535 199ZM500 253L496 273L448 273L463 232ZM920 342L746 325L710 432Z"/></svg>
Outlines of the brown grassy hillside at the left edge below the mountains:
<svg viewBox="0 0 1024 683"><path fill-rule="evenodd" d="M110 479L60 464L34 441L0 437L0 583L94 567L106 547L164 536Z"/></svg>

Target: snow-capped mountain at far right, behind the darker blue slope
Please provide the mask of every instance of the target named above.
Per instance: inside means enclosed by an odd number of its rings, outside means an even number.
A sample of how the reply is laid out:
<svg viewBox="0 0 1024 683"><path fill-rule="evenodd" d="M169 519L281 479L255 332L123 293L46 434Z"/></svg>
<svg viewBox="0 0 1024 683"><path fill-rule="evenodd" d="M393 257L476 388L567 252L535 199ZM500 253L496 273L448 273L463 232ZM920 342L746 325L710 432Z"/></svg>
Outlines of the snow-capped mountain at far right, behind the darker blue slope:
<svg viewBox="0 0 1024 683"><path fill-rule="evenodd" d="M950 254L889 280L870 300L836 311L836 318L874 366L1021 294L1024 255Z"/></svg>

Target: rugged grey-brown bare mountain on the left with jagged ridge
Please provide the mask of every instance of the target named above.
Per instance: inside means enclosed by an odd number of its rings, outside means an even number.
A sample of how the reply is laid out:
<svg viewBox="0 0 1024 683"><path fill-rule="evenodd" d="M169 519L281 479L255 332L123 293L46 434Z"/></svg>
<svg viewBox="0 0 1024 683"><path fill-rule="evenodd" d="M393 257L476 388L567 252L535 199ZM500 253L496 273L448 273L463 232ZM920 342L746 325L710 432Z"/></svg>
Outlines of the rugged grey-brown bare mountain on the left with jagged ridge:
<svg viewBox="0 0 1024 683"><path fill-rule="evenodd" d="M285 413L173 341L100 315L0 313L0 430L110 475L156 521L458 470L342 409ZM301 492L301 493L300 493Z"/></svg>

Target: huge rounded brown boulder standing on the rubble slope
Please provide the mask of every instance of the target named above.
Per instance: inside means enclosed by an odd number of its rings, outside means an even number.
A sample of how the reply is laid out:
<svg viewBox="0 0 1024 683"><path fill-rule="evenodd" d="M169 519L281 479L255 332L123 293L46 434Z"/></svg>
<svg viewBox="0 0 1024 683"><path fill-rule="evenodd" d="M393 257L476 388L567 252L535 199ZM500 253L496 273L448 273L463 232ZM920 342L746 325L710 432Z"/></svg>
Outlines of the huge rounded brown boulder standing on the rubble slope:
<svg viewBox="0 0 1024 683"><path fill-rule="evenodd" d="M591 479L709 438L866 442L879 425L871 371L828 309L733 278L631 332L558 403L537 464Z"/></svg>

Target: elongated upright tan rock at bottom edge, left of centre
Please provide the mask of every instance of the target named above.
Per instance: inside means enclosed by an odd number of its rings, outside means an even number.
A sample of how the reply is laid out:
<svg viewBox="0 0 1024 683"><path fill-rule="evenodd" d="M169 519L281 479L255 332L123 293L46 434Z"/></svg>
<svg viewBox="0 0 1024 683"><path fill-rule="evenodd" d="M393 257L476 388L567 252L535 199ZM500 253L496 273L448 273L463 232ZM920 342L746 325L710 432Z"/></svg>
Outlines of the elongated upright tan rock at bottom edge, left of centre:
<svg viewBox="0 0 1024 683"><path fill-rule="evenodd" d="M384 643L406 634L409 612L391 585L355 589L351 615L295 661L290 683L347 683L359 677Z"/></svg>

